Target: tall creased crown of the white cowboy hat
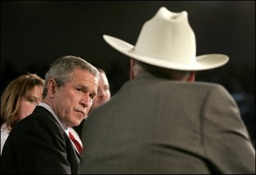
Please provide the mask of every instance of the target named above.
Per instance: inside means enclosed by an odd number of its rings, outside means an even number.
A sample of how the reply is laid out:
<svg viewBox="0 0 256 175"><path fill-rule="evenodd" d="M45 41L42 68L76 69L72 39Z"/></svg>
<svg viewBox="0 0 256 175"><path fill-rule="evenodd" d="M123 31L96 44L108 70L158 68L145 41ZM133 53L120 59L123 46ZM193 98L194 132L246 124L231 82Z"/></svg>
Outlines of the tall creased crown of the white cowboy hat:
<svg viewBox="0 0 256 175"><path fill-rule="evenodd" d="M177 63L196 62L196 38L187 12L160 8L142 27L131 53Z"/></svg>

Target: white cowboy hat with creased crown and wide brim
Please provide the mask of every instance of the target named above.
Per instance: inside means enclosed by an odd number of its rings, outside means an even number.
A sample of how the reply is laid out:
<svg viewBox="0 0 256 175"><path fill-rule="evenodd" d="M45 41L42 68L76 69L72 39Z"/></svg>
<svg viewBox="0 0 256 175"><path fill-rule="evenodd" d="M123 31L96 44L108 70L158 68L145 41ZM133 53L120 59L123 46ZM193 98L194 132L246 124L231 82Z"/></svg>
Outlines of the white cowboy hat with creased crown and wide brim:
<svg viewBox="0 0 256 175"><path fill-rule="evenodd" d="M103 35L105 41L135 60L180 71L203 71L225 65L225 54L196 56L196 38L187 12L173 13L161 7L145 22L135 46L119 38Z"/></svg>

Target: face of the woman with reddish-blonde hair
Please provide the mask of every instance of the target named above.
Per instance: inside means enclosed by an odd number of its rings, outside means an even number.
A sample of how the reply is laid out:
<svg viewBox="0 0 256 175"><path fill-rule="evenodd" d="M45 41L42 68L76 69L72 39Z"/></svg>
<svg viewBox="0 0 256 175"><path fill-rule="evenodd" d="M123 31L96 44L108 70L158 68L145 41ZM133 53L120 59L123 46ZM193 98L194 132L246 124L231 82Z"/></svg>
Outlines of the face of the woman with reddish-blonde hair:
<svg viewBox="0 0 256 175"><path fill-rule="evenodd" d="M37 106L37 104L42 100L42 91L43 87L35 86L31 90L30 96L21 97L19 101L19 109L17 112L19 121L21 121L21 119L24 119L33 112L35 106Z"/></svg>

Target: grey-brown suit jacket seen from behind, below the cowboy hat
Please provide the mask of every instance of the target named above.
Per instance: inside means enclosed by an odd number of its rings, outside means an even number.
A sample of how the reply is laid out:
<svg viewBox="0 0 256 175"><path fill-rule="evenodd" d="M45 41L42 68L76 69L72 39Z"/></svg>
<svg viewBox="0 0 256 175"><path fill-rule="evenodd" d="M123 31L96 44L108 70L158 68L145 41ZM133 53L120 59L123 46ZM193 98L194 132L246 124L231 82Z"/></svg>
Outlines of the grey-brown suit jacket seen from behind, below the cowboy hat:
<svg viewBox="0 0 256 175"><path fill-rule="evenodd" d="M255 149L221 85L143 73L89 115L81 174L255 174Z"/></svg>

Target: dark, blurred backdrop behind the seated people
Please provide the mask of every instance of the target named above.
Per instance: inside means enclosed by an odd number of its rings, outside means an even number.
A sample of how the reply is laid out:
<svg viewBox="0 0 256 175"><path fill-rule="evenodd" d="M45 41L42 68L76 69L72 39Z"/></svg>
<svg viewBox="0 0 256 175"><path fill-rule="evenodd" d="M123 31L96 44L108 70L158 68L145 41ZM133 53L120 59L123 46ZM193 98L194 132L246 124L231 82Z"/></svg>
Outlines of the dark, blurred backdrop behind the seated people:
<svg viewBox="0 0 256 175"><path fill-rule="evenodd" d="M105 69L114 95L128 80L129 59L102 35L134 45L161 6L189 13L197 55L230 56L197 80L226 87L255 144L255 1L1 1L1 94L21 74L44 78L53 60L74 55Z"/></svg>

